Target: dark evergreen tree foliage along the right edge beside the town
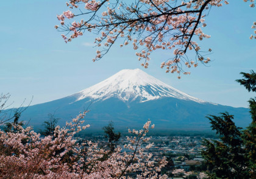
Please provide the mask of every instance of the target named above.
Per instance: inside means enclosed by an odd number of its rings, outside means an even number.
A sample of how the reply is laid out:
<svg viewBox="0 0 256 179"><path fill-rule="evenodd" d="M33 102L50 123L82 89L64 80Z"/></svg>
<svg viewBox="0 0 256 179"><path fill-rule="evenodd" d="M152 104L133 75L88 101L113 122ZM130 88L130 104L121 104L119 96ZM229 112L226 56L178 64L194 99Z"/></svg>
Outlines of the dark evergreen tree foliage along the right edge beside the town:
<svg viewBox="0 0 256 179"><path fill-rule="evenodd" d="M256 74L244 73L244 79L236 80L250 92L256 91ZM207 117L216 130L219 140L204 139L202 151L210 178L256 178L256 98L249 100L252 122L245 130L236 127L229 113Z"/></svg>

